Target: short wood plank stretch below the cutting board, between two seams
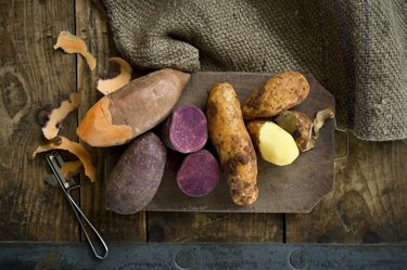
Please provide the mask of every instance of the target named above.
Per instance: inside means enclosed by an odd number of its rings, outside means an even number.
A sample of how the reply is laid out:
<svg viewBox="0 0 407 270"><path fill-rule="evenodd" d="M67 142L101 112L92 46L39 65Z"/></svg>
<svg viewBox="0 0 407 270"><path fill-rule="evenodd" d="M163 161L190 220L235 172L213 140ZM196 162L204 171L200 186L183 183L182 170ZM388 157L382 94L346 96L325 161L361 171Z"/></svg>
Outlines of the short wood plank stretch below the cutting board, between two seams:
<svg viewBox="0 0 407 270"><path fill-rule="evenodd" d="M149 242L282 242L280 214L148 213Z"/></svg>

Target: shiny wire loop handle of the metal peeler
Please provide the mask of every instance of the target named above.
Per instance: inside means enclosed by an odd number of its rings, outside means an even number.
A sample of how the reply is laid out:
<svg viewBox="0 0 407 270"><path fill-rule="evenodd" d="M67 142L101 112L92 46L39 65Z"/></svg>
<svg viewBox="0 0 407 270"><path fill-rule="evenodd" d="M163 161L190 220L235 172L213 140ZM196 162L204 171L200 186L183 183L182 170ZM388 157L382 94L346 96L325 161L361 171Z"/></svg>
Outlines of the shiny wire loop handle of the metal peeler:
<svg viewBox="0 0 407 270"><path fill-rule="evenodd" d="M102 239L102 236L100 235L100 233L98 232L98 230L93 227L93 224L89 221L89 219L85 216L85 214L81 211L80 207L76 204L76 202L74 201L74 198L72 198L71 194L69 194L69 191L72 189L74 189L76 187L73 187L71 189L68 189L68 191L65 192L65 195L66 195L66 198L68 200L72 208L74 209L74 213L75 213L75 216L77 218L77 220L79 221L79 224L80 224L80 228L82 229L88 242L89 242L89 245L90 247L92 248L93 253L94 253L94 256L98 258L98 259L104 259L107 257L107 254L109 254L109 248L107 248L107 245L106 243L104 242L104 240ZM102 254L99 254L92 240L90 239L89 236L89 233L88 233L88 230L87 230L87 226L84 223L82 219L85 220L86 224L88 227L90 227L90 229L92 230L92 232L97 235L98 237L98 241L102 244L103 246L103 252Z"/></svg>

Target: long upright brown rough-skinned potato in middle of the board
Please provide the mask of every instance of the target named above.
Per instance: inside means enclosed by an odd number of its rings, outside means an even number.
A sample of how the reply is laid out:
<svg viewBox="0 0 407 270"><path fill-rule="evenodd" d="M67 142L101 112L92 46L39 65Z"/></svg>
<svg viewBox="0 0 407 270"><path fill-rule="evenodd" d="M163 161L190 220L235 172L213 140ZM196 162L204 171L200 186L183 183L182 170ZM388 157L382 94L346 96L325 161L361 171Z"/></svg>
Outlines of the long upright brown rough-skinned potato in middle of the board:
<svg viewBox="0 0 407 270"><path fill-rule="evenodd" d="M244 126L233 87L220 82L211 90L206 117L209 138L220 159L231 197L238 205L253 204L258 196L257 157Z"/></svg>

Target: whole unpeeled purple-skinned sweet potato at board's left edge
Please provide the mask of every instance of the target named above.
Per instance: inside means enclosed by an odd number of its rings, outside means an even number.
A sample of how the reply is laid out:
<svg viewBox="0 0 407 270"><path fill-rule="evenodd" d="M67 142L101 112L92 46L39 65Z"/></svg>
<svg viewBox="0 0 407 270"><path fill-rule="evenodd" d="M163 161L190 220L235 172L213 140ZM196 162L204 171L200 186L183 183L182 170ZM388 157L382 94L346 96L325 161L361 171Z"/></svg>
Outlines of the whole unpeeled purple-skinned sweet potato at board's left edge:
<svg viewBox="0 0 407 270"><path fill-rule="evenodd" d="M136 138L118 159L106 182L106 209L130 215L143 209L155 195L164 173L166 149L147 132Z"/></svg>

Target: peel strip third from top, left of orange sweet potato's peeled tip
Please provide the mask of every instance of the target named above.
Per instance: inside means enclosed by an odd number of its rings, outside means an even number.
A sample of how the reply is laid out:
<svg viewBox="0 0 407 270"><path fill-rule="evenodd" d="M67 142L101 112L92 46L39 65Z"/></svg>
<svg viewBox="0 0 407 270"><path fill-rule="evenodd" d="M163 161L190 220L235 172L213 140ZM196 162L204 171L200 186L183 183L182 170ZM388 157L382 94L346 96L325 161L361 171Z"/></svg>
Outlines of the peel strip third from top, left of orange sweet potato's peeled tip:
<svg viewBox="0 0 407 270"><path fill-rule="evenodd" d="M52 140L58 136L63 119L73 111L79 107L81 100L80 92L69 94L69 100L63 101L58 108L52 110L49 120L42 128L42 134L46 139Z"/></svg>

